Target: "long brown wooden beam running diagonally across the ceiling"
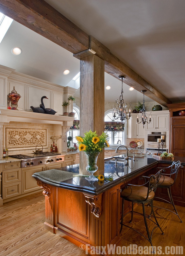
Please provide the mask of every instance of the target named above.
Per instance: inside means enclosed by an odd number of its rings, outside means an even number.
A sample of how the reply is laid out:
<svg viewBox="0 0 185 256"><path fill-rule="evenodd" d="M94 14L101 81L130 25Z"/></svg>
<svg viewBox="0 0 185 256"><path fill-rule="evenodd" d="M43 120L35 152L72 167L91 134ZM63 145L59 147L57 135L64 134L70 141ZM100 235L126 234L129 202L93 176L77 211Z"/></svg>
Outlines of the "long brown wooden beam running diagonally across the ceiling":
<svg viewBox="0 0 185 256"><path fill-rule="evenodd" d="M166 106L171 101L145 81L96 38L89 36L44 0L1 0L0 11L20 24L32 29L67 49L78 59L96 54L105 60L105 72L116 77L125 75L125 84L141 91Z"/></svg>

